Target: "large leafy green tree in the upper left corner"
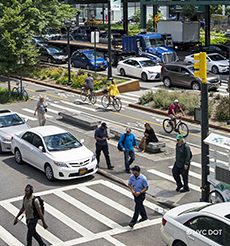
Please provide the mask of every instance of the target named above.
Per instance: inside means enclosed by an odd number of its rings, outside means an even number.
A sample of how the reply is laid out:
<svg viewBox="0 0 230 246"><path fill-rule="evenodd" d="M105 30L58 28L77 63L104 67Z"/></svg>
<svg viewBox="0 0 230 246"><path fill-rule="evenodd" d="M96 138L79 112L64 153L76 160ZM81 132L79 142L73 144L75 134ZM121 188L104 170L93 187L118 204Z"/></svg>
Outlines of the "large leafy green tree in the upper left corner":
<svg viewBox="0 0 230 246"><path fill-rule="evenodd" d="M60 29L78 10L58 0L1 0L0 3L0 71L9 75L24 66L36 64L37 50L30 44L33 34L48 28Z"/></svg>

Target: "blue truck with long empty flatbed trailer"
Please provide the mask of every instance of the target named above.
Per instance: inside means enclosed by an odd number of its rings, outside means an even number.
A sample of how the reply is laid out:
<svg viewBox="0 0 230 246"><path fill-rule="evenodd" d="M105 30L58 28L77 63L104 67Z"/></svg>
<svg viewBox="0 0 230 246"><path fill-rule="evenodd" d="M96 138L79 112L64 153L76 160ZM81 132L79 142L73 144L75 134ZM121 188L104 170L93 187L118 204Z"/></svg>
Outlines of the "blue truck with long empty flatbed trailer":
<svg viewBox="0 0 230 246"><path fill-rule="evenodd" d="M63 50L67 50L66 40L49 40L49 45L58 46ZM94 43L86 41L70 41L71 54L79 49L94 49ZM108 58L108 45L96 44L96 51ZM148 57L157 63L164 64L166 62L178 61L176 52L165 46L164 38L161 34L139 34L136 36L124 36L122 45L111 47L112 65L117 65L121 60L131 56Z"/></svg>

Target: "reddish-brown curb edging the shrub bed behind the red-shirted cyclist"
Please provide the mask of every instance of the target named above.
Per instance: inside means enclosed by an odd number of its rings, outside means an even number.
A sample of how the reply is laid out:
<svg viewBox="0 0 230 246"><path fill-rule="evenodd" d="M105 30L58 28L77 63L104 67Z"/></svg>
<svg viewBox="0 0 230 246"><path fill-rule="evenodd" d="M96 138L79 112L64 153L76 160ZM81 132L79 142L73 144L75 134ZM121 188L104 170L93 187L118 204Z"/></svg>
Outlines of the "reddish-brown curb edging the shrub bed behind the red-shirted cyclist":
<svg viewBox="0 0 230 246"><path fill-rule="evenodd" d="M168 116L167 112L164 112L164 111L161 111L161 110L158 110L158 109L154 109L154 108L147 108L147 107L144 107L144 106L138 105L138 104L132 104L132 103L130 103L129 104L129 107L141 109L141 110L152 112L152 113L155 113L155 114L160 114L160 115ZM183 120L184 121L187 121L187 122L190 122L190 123L193 123L193 124L199 125L199 123L197 123L195 120L190 119L188 117L183 117ZM222 131L230 132L230 128L223 127L223 126L209 124L209 127L214 128L214 129L217 129L217 130L222 130Z"/></svg>

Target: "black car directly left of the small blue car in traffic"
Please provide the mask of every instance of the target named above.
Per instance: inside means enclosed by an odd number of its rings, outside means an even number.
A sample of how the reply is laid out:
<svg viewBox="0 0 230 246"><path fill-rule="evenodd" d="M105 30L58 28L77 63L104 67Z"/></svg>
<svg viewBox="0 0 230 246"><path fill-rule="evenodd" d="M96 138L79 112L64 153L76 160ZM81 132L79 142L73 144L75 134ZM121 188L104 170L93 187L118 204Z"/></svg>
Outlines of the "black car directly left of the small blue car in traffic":
<svg viewBox="0 0 230 246"><path fill-rule="evenodd" d="M38 59L49 63L66 63L68 56L58 47L44 45L39 49Z"/></svg>

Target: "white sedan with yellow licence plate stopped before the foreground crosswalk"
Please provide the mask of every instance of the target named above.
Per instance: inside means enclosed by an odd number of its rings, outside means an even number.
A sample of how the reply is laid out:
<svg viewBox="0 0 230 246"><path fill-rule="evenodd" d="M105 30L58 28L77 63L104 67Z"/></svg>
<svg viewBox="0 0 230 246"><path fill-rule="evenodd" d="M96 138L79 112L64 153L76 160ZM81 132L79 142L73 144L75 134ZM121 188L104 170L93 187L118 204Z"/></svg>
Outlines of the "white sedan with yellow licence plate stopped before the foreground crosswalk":
<svg viewBox="0 0 230 246"><path fill-rule="evenodd" d="M59 127L41 126L15 134L11 151L18 164L25 161L40 169L49 181L74 179L98 169L95 155L83 141Z"/></svg>

